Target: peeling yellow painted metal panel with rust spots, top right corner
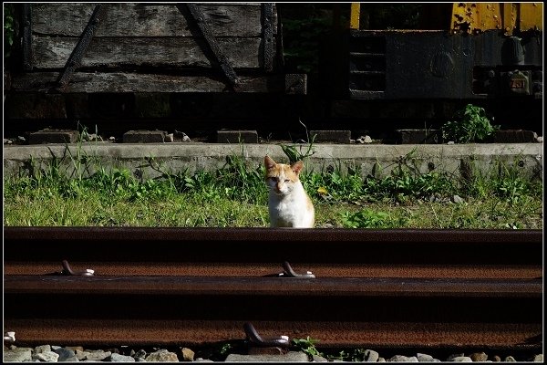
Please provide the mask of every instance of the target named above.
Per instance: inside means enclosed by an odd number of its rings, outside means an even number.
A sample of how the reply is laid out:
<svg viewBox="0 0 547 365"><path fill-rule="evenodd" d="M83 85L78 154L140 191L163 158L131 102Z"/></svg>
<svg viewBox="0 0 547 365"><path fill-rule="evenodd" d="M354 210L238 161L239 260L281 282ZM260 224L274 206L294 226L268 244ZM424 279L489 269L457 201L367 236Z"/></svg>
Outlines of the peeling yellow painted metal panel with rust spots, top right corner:
<svg viewBox="0 0 547 365"><path fill-rule="evenodd" d="M542 29L542 3L454 3L451 30L476 33L500 29L511 35L515 29Z"/></svg>

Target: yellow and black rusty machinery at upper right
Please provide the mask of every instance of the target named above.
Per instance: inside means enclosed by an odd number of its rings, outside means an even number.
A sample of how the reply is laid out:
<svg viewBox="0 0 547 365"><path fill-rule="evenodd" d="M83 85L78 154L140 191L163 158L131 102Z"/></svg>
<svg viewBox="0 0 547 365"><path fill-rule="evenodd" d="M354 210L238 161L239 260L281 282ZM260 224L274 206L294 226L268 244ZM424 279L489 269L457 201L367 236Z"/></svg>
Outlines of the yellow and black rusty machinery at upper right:
<svg viewBox="0 0 547 365"><path fill-rule="evenodd" d="M351 99L542 99L542 3L423 4L413 29L368 28L371 6L349 9Z"/></svg>

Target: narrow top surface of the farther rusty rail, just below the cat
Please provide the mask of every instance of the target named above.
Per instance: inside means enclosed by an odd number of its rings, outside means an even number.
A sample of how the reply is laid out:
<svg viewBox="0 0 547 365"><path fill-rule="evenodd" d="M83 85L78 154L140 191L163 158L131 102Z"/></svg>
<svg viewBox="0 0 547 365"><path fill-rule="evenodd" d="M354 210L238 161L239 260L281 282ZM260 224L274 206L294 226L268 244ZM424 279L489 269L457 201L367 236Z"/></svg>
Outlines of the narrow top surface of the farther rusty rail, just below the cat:
<svg viewBox="0 0 547 365"><path fill-rule="evenodd" d="M290 232L290 233L289 233ZM445 242L530 243L542 230L480 229L294 229L283 228L138 228L5 227L6 239L28 241L262 241L262 242Z"/></svg>

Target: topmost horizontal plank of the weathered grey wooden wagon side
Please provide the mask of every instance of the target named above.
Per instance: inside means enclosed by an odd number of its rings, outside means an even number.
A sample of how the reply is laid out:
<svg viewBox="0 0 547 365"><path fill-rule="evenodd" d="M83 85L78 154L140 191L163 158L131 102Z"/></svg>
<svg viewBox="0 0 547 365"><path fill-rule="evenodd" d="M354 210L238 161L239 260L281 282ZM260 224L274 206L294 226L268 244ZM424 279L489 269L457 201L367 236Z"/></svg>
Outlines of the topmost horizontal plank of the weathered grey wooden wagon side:
<svg viewBox="0 0 547 365"><path fill-rule="evenodd" d="M198 5L214 36L262 35L260 3ZM33 4L33 32L45 36L80 36L94 6ZM275 8L273 25L277 34ZM192 36L192 29L175 4L108 4L107 16L96 36Z"/></svg>

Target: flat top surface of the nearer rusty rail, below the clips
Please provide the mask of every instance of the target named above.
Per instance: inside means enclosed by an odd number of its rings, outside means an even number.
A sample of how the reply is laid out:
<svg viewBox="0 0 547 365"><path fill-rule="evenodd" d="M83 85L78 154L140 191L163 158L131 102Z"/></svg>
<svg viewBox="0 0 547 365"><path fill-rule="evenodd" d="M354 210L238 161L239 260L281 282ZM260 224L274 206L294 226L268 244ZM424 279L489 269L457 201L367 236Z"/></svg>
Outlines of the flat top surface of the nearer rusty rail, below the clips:
<svg viewBox="0 0 547 365"><path fill-rule="evenodd" d="M5 276L4 292L287 297L541 297L541 280L201 276Z"/></svg>

